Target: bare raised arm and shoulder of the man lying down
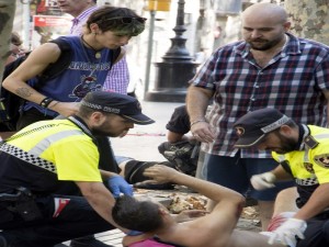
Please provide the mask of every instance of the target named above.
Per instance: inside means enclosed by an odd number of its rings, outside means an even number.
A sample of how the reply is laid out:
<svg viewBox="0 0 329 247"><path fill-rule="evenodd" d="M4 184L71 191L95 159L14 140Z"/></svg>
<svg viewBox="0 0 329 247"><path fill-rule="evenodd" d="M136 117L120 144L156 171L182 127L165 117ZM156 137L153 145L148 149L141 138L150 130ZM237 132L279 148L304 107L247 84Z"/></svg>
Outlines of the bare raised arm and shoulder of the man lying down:
<svg viewBox="0 0 329 247"><path fill-rule="evenodd" d="M182 246L227 246L245 204L241 194L225 187L186 176L169 167L154 166L145 170L145 176L157 182L174 182L186 186L212 199L216 205L203 217L181 223L169 234L157 233L164 240Z"/></svg>

